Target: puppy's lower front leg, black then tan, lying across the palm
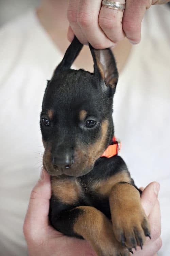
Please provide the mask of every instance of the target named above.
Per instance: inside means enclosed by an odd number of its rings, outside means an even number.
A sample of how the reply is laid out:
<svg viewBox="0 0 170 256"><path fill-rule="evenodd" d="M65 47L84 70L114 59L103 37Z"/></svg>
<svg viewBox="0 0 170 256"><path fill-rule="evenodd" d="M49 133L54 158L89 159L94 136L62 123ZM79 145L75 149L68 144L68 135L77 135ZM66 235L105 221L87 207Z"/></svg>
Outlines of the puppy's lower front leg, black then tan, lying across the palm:
<svg viewBox="0 0 170 256"><path fill-rule="evenodd" d="M116 240L112 222L94 207L76 207L52 222L60 232L89 241L98 256L129 256L129 250Z"/></svg>

